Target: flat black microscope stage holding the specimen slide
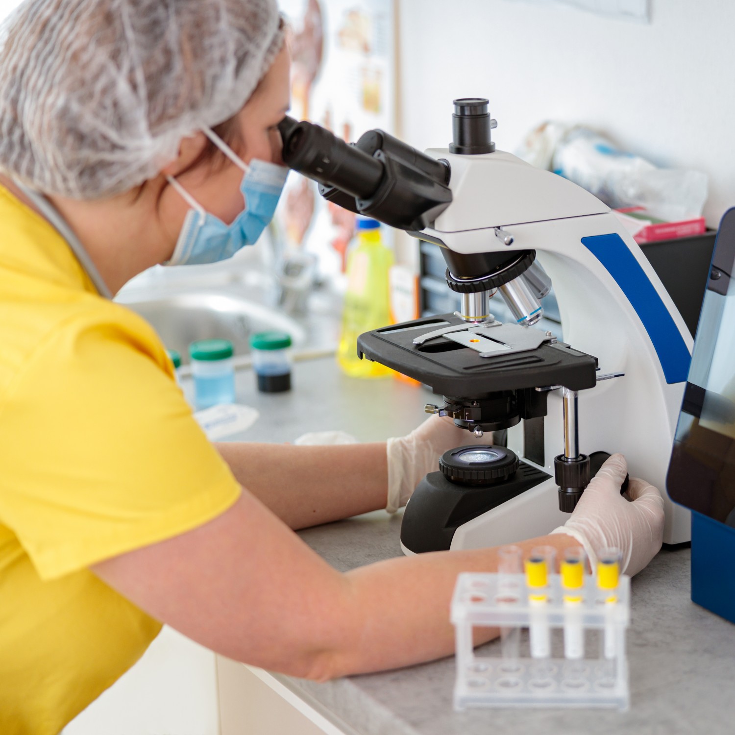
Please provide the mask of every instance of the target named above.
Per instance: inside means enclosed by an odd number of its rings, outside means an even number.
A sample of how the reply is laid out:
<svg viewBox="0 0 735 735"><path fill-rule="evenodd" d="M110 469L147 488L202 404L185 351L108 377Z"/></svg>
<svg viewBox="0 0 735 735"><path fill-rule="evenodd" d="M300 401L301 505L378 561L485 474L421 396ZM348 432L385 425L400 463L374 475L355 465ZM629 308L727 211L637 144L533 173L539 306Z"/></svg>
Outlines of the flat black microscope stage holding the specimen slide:
<svg viewBox="0 0 735 735"><path fill-rule="evenodd" d="M501 390L551 385L563 385L571 390L595 386L597 358L563 343L537 340L540 344L536 348L493 354L485 351L484 356L477 347L467 346L466 338L458 341L457 331L420 345L414 343L423 334L463 324L473 327L453 314L443 314L381 327L361 334L357 339L357 351L361 356L431 386L434 392L442 395L479 397ZM544 332L533 327L520 329L545 337ZM459 334L466 337L468 333ZM492 330L483 329L481 334L492 334Z"/></svg>

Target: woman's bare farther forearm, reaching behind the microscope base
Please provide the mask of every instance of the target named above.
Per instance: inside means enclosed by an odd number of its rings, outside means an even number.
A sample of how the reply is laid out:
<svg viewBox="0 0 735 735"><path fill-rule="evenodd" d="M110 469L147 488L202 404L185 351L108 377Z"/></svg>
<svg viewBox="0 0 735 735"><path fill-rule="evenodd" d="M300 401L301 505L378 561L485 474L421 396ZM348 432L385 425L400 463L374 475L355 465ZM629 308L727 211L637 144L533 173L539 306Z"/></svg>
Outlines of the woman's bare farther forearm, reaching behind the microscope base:
<svg viewBox="0 0 735 735"><path fill-rule="evenodd" d="M237 481L289 528L318 526L386 506L385 442L215 446Z"/></svg>

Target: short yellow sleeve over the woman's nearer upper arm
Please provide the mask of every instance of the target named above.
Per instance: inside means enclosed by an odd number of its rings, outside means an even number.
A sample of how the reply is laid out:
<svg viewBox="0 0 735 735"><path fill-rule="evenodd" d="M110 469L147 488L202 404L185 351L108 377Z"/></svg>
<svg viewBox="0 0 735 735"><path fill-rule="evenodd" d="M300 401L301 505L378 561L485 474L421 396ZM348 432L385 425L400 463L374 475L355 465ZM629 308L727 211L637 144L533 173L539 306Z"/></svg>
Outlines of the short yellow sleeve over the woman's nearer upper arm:
<svg viewBox="0 0 735 735"><path fill-rule="evenodd" d="M54 329L0 407L0 521L44 579L201 526L240 494L154 331L127 319Z"/></svg>

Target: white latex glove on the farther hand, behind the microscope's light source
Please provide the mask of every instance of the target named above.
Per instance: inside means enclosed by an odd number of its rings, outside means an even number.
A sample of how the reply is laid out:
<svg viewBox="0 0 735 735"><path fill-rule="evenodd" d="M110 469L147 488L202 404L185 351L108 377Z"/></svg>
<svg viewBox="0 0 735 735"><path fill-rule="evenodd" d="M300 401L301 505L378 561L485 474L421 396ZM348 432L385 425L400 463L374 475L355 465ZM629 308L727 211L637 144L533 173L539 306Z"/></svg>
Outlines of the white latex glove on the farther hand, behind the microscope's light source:
<svg viewBox="0 0 735 735"><path fill-rule="evenodd" d="M387 512L395 513L408 503L423 476L439 470L445 451L466 444L492 444L492 433L476 439L467 429L454 426L451 418L430 416L408 436L389 439Z"/></svg>

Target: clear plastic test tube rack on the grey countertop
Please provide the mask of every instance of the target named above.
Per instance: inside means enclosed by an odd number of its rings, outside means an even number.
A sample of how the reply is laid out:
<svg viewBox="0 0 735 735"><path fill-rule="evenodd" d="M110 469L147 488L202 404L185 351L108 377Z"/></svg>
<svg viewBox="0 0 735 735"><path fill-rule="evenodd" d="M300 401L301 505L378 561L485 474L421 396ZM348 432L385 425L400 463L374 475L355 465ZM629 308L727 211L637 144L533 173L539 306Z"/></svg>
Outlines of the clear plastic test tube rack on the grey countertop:
<svg viewBox="0 0 735 735"><path fill-rule="evenodd" d="M559 575L548 576L546 600L529 601L537 589L526 586L523 574L462 573L451 603L456 634L454 707L612 707L628 709L628 662L625 629L630 623L630 578L620 576L614 598L599 589L595 576L585 576L581 600L564 603ZM611 602L610 600L614 601ZM597 630L595 657L565 659L479 656L473 648L473 628L501 628L501 635L533 625L551 632L567 626ZM520 632L520 631L519 631ZM558 637L559 634L556 634ZM609 638L603 644L603 638ZM558 644L558 641L557 641ZM502 649L502 645L490 645ZM555 646L556 649L559 645ZM592 645L587 645L585 653ZM520 651L520 649L519 649Z"/></svg>

